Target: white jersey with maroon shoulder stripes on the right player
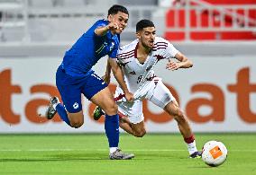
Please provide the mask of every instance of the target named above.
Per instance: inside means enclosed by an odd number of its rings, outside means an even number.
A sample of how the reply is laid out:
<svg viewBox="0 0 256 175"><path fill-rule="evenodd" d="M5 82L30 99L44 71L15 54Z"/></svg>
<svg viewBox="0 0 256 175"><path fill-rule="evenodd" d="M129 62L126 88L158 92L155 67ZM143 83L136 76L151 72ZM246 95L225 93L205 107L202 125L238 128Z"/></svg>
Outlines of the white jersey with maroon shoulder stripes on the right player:
<svg viewBox="0 0 256 175"><path fill-rule="evenodd" d="M175 57L178 50L168 40L156 37L151 53L141 64L137 59L137 47L139 39L119 48L117 52L117 63L123 68L123 75L128 90L132 93L147 87L156 76L153 67L161 59ZM147 89L147 88L146 88Z"/></svg>

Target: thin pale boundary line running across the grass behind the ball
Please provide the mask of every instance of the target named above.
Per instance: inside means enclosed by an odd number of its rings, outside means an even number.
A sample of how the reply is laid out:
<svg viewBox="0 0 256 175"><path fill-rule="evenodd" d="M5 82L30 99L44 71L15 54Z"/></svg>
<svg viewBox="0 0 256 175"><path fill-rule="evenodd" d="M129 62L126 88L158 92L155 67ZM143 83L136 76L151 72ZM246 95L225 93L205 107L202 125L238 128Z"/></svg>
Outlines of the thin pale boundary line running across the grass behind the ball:
<svg viewBox="0 0 256 175"><path fill-rule="evenodd" d="M107 152L108 149L0 149L0 152ZM173 150L173 149L127 149L126 152L187 152L187 150ZM256 152L256 150L228 150L228 152Z"/></svg>

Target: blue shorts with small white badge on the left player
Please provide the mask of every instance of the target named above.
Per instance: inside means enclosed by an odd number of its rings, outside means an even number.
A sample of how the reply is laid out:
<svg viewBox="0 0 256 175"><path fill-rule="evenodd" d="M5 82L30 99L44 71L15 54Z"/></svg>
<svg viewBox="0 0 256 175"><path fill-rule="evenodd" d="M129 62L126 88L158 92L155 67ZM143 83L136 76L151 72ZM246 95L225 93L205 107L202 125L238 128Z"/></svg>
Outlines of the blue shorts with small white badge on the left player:
<svg viewBox="0 0 256 175"><path fill-rule="evenodd" d="M82 110L81 93L90 100L97 92L105 89L107 84L93 70L83 77L73 77L59 66L56 73L56 85L65 108L70 113Z"/></svg>

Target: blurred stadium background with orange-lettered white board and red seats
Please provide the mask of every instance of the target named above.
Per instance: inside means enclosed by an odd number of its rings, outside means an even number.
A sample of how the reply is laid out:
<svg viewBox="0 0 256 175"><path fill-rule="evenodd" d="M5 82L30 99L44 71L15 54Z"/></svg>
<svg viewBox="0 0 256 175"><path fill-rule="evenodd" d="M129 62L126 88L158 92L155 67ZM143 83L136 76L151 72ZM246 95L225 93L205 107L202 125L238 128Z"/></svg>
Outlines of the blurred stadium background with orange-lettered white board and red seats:
<svg viewBox="0 0 256 175"><path fill-rule="evenodd" d="M87 100L78 129L39 114L58 95L55 71L65 50L113 4L130 12L122 44L135 39L136 22L151 19L159 36L194 61L175 72L162 61L156 73L195 132L256 132L255 0L0 0L0 133L104 133ZM97 74L104 74L105 60L94 67ZM150 102L143 110L149 132L178 132Z"/></svg>

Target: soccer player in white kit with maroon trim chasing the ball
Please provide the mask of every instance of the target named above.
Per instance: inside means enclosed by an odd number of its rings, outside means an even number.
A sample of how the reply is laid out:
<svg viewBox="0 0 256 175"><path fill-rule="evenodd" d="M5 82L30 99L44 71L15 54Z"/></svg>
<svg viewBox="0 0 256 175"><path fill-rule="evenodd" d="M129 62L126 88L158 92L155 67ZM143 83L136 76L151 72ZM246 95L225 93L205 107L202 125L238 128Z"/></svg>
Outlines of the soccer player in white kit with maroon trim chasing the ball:
<svg viewBox="0 0 256 175"><path fill-rule="evenodd" d="M142 100L147 99L164 109L178 122L179 131L187 143L189 157L201 157L201 152L197 151L195 137L184 112L178 107L178 102L169 89L153 71L153 67L161 59L169 59L166 68L172 71L189 68L193 66L192 62L174 48L168 40L156 37L155 26L149 20L137 23L136 36L137 39L119 48L117 53L117 63L123 69L125 83L134 95L134 101L129 102L124 98L120 87L117 87L115 91L114 99L120 115L123 116L120 119L120 127L133 136L142 137L146 134ZM170 58L176 58L178 62L171 61ZM107 64L105 74L107 83L110 82L110 72L111 67ZM94 117L98 119L101 114L103 114L101 109L97 107Z"/></svg>

